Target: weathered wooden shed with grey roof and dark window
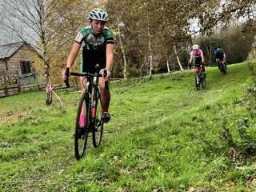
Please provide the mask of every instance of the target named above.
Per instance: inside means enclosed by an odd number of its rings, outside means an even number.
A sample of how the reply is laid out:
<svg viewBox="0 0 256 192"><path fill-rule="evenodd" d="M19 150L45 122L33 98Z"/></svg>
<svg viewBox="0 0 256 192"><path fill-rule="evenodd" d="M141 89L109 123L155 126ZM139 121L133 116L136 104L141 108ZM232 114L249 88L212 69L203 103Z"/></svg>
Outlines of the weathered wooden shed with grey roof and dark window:
<svg viewBox="0 0 256 192"><path fill-rule="evenodd" d="M30 48L26 42L0 46L0 97L19 94L21 86L30 83L24 79L31 81L31 77L34 77L34 81L38 81L36 73L31 68Z"/></svg>

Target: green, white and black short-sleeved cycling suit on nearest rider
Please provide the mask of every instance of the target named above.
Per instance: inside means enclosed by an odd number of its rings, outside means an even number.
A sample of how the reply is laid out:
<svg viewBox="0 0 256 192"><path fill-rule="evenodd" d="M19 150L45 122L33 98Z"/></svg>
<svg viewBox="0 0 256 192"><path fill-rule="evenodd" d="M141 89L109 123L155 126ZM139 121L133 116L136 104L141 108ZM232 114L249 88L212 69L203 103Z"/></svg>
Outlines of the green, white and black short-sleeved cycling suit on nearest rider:
<svg viewBox="0 0 256 192"><path fill-rule="evenodd" d="M99 64L101 69L106 67L106 45L114 43L110 29L104 27L102 34L95 35L92 27L86 26L79 31L75 42L84 42L80 72L94 73L96 64Z"/></svg>

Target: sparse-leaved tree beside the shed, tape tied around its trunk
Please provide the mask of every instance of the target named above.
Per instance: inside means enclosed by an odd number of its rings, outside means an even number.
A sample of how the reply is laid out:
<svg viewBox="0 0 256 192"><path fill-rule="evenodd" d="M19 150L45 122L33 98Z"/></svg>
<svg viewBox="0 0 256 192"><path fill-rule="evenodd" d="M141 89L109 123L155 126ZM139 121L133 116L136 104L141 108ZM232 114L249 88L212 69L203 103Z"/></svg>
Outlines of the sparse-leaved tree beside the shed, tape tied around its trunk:
<svg viewBox="0 0 256 192"><path fill-rule="evenodd" d="M74 39L74 36L70 38L63 29L70 21L64 19L62 15L75 2L79 1L2 0L3 9L1 11L4 10L3 15L5 17L0 22L0 29L10 31L11 34L14 34L16 41L28 43L43 62L46 105L52 103L50 59L70 39ZM80 9L85 9L85 7L81 6ZM60 37L62 37L62 40L60 40Z"/></svg>

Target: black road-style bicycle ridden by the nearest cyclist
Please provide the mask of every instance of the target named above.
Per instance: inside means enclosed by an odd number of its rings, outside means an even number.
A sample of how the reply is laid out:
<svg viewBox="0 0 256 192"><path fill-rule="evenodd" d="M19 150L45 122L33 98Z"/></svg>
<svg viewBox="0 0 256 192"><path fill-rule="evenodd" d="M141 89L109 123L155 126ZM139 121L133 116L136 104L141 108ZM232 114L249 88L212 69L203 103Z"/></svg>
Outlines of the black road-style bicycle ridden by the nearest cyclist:
<svg viewBox="0 0 256 192"><path fill-rule="evenodd" d="M69 76L81 76L86 78L86 90L80 98L78 104L78 112L74 130L74 154L79 160L83 157L86 151L87 139L89 134L92 134L93 146L98 147L102 141L103 124L101 94L98 90L98 78L102 77L99 74L99 66L95 67L95 74L89 73L70 73L69 68L66 68L66 86L70 87ZM106 77L106 70L104 70ZM108 83L105 82L106 90L109 90ZM80 114L82 106L86 106L86 123L84 127L80 126Z"/></svg>

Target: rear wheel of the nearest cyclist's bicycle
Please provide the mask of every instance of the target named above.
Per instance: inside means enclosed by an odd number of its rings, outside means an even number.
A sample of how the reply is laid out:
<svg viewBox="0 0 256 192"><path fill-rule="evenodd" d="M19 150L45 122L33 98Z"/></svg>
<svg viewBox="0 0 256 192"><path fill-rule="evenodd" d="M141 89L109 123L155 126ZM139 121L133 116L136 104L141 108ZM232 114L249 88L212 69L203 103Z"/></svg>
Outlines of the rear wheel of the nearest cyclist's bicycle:
<svg viewBox="0 0 256 192"><path fill-rule="evenodd" d="M95 109L93 110L93 115L95 114L95 118L94 118L93 144L94 144L94 147L97 147L102 141L102 133L103 133L103 122L101 121L102 102L101 102L101 98L98 90L94 90L94 107Z"/></svg>

